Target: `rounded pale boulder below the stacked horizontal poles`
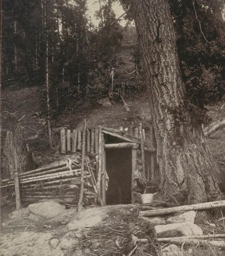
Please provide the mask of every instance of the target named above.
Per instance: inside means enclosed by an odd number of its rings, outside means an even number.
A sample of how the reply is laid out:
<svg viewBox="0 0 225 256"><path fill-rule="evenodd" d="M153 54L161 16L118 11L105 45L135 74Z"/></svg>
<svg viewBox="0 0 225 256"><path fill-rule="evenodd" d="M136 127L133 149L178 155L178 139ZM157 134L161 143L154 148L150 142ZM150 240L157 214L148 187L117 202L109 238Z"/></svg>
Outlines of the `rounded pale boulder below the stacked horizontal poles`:
<svg viewBox="0 0 225 256"><path fill-rule="evenodd" d="M31 213L46 218L54 218L65 211L63 205L52 201L30 204L28 205L28 209Z"/></svg>

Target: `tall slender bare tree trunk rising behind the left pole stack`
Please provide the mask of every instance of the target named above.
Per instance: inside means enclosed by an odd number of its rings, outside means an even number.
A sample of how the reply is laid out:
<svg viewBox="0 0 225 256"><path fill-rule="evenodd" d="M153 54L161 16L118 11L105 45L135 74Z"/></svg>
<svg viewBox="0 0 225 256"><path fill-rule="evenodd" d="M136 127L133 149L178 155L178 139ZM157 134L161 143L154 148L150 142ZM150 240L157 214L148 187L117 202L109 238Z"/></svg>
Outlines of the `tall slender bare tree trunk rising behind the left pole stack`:
<svg viewBox="0 0 225 256"><path fill-rule="evenodd" d="M51 124L50 124L50 104L49 104L49 79L48 79L48 30L47 30L47 22L48 22L48 2L45 0L45 32L46 32L46 64L45 64L45 72L46 72L46 96L47 96L47 125L48 125L48 139L49 146L53 148L52 145L52 132L51 132Z"/></svg>

